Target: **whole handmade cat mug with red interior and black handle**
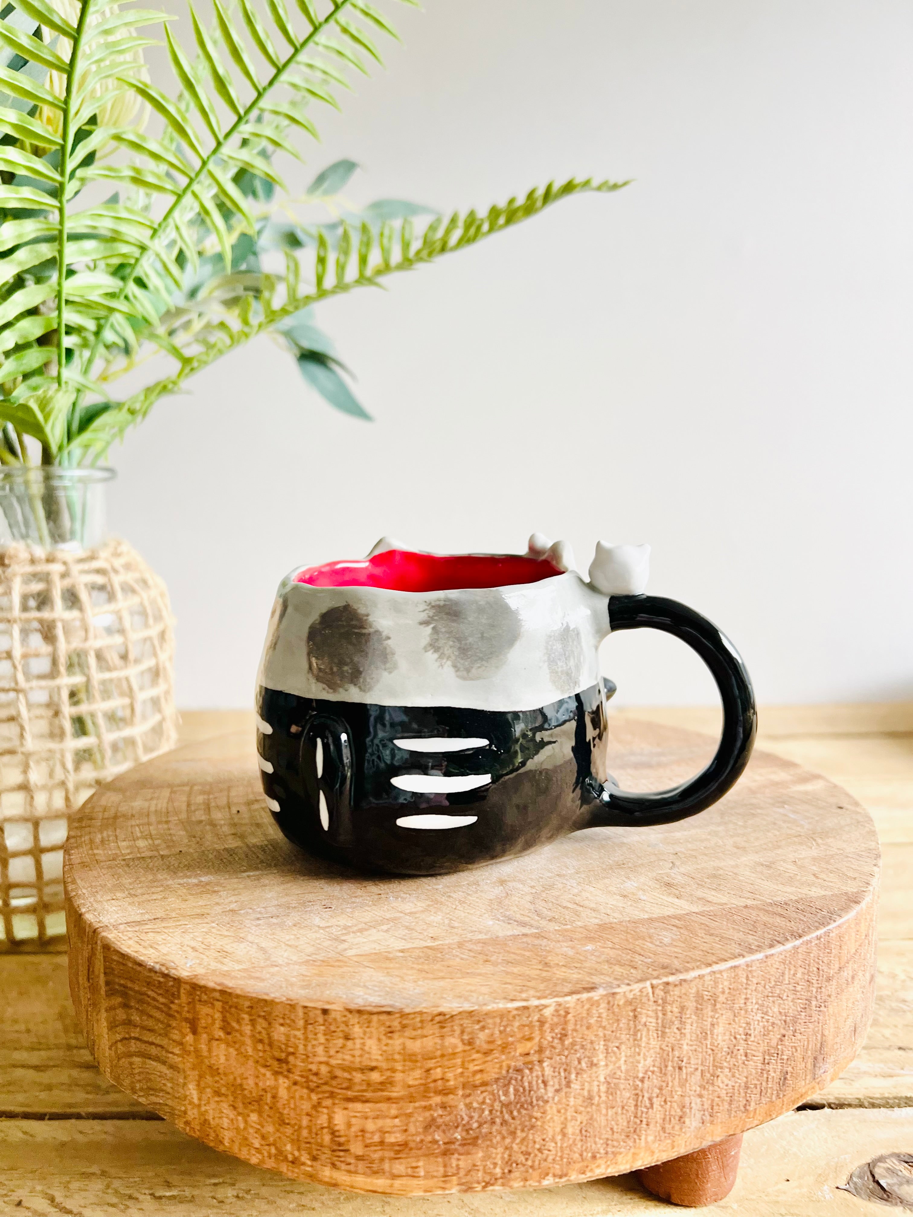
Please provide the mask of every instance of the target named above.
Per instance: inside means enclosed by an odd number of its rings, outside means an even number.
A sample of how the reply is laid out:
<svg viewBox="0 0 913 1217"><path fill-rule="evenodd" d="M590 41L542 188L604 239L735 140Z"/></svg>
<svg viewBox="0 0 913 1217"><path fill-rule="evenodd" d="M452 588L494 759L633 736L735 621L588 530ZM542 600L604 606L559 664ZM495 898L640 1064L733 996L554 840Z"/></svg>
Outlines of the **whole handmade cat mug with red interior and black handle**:
<svg viewBox="0 0 913 1217"><path fill-rule="evenodd" d="M755 741L751 682L700 613L643 594L648 545L441 555L386 538L366 559L279 588L257 689L257 748L276 824L360 871L441 875L566 832L667 824L721 798ZM606 770L598 650L651 627L688 643L723 703L716 756L690 781L620 790Z"/></svg>

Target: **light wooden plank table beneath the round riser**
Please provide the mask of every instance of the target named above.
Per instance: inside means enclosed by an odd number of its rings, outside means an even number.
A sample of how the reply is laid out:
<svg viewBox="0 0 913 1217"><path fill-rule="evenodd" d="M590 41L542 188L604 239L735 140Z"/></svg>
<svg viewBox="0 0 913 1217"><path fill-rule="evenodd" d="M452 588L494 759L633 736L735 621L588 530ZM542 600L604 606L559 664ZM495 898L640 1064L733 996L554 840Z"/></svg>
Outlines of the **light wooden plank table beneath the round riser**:
<svg viewBox="0 0 913 1217"><path fill-rule="evenodd" d="M711 711L639 708L715 730ZM183 742L251 723L185 714ZM760 746L844 785L873 814L884 851L879 993L853 1065L801 1110L745 1134L732 1195L743 1217L873 1213L840 1190L890 1152L913 1154L913 705L768 710ZM707 751L712 748L708 739ZM286 1179L185 1137L108 1083L82 1044L66 959L0 957L0 1215L208 1217L615 1217L672 1212L631 1176L537 1191L396 1199ZM902 1210L897 1210L902 1211Z"/></svg>

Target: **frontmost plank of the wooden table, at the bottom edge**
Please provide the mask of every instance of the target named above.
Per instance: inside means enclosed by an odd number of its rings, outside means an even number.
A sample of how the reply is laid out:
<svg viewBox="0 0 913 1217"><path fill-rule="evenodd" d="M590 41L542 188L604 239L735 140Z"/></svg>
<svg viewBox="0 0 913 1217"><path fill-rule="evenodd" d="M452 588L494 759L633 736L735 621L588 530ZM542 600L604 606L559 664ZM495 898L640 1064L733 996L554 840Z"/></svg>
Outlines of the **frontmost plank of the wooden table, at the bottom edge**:
<svg viewBox="0 0 913 1217"><path fill-rule="evenodd" d="M1 963L1 961L0 961ZM913 1146L913 1111L800 1111L745 1134L713 1217L902 1217L842 1190ZM679 1210L680 1212L680 1210ZM0 1121L2 1217L674 1217L634 1176L449 1196L353 1195L262 1171L166 1121Z"/></svg>

